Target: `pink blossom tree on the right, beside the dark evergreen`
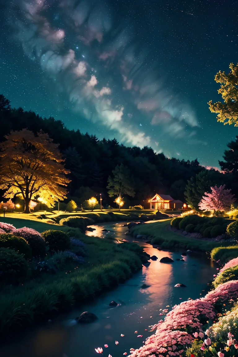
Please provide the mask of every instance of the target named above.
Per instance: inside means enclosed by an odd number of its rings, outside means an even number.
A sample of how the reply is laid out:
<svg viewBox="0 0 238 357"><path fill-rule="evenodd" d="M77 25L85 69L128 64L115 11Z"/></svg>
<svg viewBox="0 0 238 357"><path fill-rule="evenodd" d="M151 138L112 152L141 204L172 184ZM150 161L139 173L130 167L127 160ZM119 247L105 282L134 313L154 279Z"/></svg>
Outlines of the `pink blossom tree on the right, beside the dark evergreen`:
<svg viewBox="0 0 238 357"><path fill-rule="evenodd" d="M236 201L231 190L225 190L225 186L211 187L212 192L205 192L202 200L198 203L201 211L223 212L229 210L233 202Z"/></svg>

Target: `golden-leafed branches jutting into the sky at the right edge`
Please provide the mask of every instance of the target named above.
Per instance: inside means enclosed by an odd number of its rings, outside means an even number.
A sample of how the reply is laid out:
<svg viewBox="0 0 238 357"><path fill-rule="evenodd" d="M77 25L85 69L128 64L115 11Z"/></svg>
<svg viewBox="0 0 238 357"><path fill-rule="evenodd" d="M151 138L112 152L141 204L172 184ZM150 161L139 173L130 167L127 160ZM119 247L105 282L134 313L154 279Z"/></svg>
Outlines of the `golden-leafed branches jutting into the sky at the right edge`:
<svg viewBox="0 0 238 357"><path fill-rule="evenodd" d="M222 95L224 103L208 102L212 113L217 113L217 121L225 124L238 126L238 64L230 64L231 71L228 74L219 71L215 81L221 84L218 93Z"/></svg>

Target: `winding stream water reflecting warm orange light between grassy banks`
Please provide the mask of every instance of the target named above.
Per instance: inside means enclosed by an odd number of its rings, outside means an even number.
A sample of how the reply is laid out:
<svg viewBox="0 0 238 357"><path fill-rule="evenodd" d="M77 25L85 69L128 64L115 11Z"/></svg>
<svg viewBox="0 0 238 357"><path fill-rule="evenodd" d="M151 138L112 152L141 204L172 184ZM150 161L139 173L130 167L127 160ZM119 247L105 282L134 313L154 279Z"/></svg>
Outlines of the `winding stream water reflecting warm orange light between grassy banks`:
<svg viewBox="0 0 238 357"><path fill-rule="evenodd" d="M130 236L125 236L127 227L122 224L92 226L96 231L88 235L113 234L116 238L133 241ZM103 228L110 233L103 233ZM156 255L158 260L151 261L148 267L143 267L125 284L103 293L94 302L66 316L59 316L45 326L24 333L20 331L10 342L0 347L0 356L95 357L99 356L95 351L97 347L103 348L103 356L106 357L109 354L122 357L125 352L130 356L130 348L140 347L146 337L151 335L149 326L163 318L159 315L163 309L170 310L173 305L188 298L204 296L210 289L208 284L217 272L217 266L208 255L194 253L182 257L182 251L159 251L146 243L137 243L145 246L145 251L150 256ZM171 257L174 263L160 263L159 260L164 256ZM183 258L184 261L176 261L176 258ZM141 289L143 283L150 287ZM183 283L186 287L175 288L177 283ZM110 308L108 304L112 300L119 306ZM80 316L83 311L95 313L98 320L88 325L74 324L72 319ZM118 341L117 345L115 341Z"/></svg>

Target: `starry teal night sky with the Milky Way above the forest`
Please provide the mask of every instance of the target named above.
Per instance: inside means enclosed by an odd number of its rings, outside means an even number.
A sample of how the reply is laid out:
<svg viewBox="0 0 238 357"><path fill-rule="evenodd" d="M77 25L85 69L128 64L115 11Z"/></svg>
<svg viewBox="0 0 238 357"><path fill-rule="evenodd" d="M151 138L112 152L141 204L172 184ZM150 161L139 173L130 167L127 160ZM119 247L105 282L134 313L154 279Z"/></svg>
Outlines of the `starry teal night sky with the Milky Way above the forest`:
<svg viewBox="0 0 238 357"><path fill-rule="evenodd" d="M0 93L69 129L219 166L209 111L237 64L238 2L0 0ZM4 3L4 4L3 4Z"/></svg>

